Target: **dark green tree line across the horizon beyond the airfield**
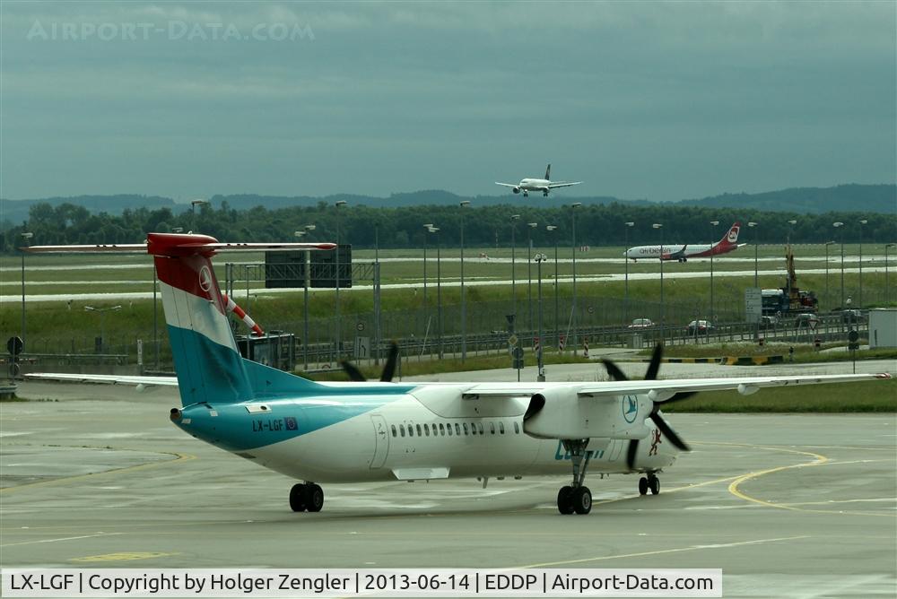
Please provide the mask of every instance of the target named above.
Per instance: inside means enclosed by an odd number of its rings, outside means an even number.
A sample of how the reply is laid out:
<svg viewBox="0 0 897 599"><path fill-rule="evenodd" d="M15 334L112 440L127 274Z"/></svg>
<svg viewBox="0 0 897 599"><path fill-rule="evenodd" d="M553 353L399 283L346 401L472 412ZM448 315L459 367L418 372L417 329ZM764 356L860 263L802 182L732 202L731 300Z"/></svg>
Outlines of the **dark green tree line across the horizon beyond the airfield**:
<svg viewBox="0 0 897 599"><path fill-rule="evenodd" d="M575 222L578 245L623 246L664 243L707 243L722 237L736 221L742 224L739 241L747 243L783 243L788 236L792 243L844 243L862 241L869 244L897 241L897 215L862 212L798 214L706 208L683 205L605 205L552 204L530 208L513 204L476 206L475 202L460 205L419 205L397 208L370 207L363 204L335 206L317 205L267 210L264 206L236 210L226 201L220 205L202 204L196 211L173 213L169 208L127 209L120 216L91 213L74 204L35 204L22 225L5 230L0 238L4 253L22 246L22 233L30 232L30 245L139 243L146 234L155 232L195 231L224 241L262 242L296 239L295 232L314 230L305 241L339 239L357 248L407 248L434 244L436 237L443 247L508 247L512 230L518 246L527 237L540 246L551 246L555 240L568 245ZM518 219L512 216L518 214ZM861 224L861 221L867 221ZM718 221L714 226L711 221ZM749 228L749 221L757 225ZM795 221L791 223L789 221ZM531 228L528 223L536 222ZM627 227L626 222L634 225ZM832 226L843 222L840 228ZM661 230L653 225L662 224ZM431 233L424 225L439 231ZM546 230L547 225L557 229ZM843 237L842 237L843 236Z"/></svg>

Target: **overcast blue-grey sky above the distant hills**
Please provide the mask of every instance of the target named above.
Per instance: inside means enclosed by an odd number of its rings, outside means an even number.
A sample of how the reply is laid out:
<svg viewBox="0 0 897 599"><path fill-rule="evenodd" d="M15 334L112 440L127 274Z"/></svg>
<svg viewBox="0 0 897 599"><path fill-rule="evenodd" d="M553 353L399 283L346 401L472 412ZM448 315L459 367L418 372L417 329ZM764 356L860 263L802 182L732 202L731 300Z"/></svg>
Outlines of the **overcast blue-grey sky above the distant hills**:
<svg viewBox="0 0 897 599"><path fill-rule="evenodd" d="M7 1L0 196L893 183L895 6Z"/></svg>

